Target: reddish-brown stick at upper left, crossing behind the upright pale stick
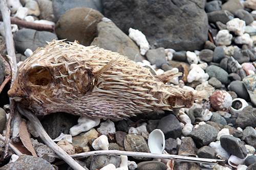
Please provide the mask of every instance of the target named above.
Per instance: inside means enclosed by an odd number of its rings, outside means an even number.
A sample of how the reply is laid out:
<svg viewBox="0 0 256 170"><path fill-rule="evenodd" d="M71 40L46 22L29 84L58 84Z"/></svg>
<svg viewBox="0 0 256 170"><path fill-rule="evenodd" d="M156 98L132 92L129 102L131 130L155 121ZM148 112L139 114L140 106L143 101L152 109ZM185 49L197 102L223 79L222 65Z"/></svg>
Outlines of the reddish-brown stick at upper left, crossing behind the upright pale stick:
<svg viewBox="0 0 256 170"><path fill-rule="evenodd" d="M54 31L54 28L51 25L28 22L28 21L20 20L13 17L10 17L10 19L12 24L16 24L19 27L29 28L37 31ZM0 14L0 20L3 20L3 17L1 14Z"/></svg>

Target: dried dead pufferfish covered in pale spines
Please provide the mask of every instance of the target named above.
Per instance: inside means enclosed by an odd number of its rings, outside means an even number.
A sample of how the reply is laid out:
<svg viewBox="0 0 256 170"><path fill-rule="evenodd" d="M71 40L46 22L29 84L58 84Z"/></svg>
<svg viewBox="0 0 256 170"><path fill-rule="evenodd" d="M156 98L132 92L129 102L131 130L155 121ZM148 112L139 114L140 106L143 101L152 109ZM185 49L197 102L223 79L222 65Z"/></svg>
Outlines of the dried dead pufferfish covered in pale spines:
<svg viewBox="0 0 256 170"><path fill-rule="evenodd" d="M196 99L207 99L207 91L193 93L166 84L177 76L181 73L154 76L118 53L52 40L20 65L8 95L42 115L66 112L95 118L189 108Z"/></svg>

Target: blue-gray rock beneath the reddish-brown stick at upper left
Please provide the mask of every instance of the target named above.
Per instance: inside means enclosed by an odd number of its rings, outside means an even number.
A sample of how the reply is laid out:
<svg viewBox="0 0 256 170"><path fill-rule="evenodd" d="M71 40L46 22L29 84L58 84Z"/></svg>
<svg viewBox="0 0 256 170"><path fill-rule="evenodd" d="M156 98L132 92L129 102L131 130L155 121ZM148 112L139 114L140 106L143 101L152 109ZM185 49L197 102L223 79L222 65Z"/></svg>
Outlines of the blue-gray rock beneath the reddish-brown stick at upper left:
<svg viewBox="0 0 256 170"><path fill-rule="evenodd" d="M52 39L57 39L57 36L51 32L25 28L13 34L16 51L22 54L27 48L35 51L38 47L45 47L46 41L51 42Z"/></svg>

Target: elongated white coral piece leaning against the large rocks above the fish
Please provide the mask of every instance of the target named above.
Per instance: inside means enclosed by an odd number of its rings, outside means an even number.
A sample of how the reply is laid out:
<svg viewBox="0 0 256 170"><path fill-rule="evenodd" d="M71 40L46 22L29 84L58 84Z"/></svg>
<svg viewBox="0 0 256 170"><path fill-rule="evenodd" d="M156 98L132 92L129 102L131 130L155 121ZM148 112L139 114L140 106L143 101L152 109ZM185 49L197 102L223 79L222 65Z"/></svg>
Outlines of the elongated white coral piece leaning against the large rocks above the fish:
<svg viewBox="0 0 256 170"><path fill-rule="evenodd" d="M139 30L129 29L129 37L140 46L140 54L145 55L150 49L150 44L146 40L146 36Z"/></svg>

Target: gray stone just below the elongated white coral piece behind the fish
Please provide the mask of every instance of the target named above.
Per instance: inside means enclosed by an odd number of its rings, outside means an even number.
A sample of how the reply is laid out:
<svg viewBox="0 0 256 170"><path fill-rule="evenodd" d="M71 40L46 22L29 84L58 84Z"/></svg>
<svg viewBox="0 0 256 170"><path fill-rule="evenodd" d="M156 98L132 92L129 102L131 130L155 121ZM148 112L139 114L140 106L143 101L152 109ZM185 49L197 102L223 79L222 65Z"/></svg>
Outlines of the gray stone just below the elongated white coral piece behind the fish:
<svg viewBox="0 0 256 170"><path fill-rule="evenodd" d="M156 48L156 49L150 49L145 54L148 61L151 62L152 65L155 64L157 59L164 59L165 60L165 51L163 47Z"/></svg>

